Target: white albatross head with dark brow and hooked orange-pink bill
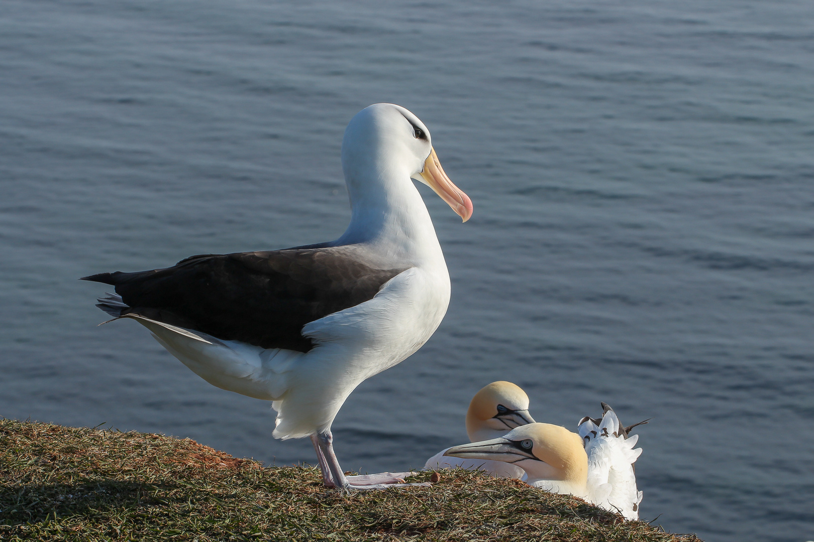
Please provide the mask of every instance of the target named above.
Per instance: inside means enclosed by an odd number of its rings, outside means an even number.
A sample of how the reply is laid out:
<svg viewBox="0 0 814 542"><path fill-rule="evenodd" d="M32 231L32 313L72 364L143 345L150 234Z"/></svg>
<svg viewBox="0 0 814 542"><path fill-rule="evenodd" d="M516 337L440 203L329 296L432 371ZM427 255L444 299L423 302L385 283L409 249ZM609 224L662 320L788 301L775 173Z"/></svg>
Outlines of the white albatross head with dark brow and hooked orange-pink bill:
<svg viewBox="0 0 814 542"><path fill-rule="evenodd" d="M375 103L357 113L342 138L342 169L351 205L360 200L389 204L405 183L427 184L464 222L472 202L444 173L427 126L404 107ZM412 188L412 187L411 187Z"/></svg>

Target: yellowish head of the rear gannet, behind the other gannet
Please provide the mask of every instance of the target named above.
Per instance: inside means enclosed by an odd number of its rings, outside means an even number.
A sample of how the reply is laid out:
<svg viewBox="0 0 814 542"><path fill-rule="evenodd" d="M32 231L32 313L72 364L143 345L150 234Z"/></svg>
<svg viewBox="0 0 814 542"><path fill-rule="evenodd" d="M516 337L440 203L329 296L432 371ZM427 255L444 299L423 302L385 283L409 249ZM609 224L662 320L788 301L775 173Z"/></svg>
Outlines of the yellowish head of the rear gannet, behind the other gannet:
<svg viewBox="0 0 814 542"><path fill-rule="evenodd" d="M528 414L528 396L517 384L499 380L475 393L466 411L469 440L486 440L534 423Z"/></svg>

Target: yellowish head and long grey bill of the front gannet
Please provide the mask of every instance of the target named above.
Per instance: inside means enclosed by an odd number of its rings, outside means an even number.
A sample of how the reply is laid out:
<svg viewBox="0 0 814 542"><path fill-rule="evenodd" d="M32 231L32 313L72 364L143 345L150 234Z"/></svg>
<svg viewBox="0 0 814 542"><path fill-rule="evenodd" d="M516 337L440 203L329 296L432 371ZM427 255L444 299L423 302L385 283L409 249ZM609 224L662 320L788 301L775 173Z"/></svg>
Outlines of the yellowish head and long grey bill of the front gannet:
<svg viewBox="0 0 814 542"><path fill-rule="evenodd" d="M513 463L527 472L528 483L564 480L584 488L588 481L588 456L582 439L550 423L523 425L497 439L454 446L444 455Z"/></svg>

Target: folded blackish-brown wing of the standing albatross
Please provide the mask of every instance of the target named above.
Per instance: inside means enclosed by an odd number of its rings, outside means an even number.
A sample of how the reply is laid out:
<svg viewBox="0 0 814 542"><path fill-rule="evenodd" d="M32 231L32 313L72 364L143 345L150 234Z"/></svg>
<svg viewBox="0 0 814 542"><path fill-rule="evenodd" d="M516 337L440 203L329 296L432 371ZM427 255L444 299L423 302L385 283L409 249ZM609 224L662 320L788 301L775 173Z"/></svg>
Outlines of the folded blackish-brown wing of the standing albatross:
<svg viewBox="0 0 814 542"><path fill-rule="evenodd" d="M379 269L347 247L201 254L173 267L84 277L114 284L139 314L221 340L308 352L306 323L357 306L405 271Z"/></svg>

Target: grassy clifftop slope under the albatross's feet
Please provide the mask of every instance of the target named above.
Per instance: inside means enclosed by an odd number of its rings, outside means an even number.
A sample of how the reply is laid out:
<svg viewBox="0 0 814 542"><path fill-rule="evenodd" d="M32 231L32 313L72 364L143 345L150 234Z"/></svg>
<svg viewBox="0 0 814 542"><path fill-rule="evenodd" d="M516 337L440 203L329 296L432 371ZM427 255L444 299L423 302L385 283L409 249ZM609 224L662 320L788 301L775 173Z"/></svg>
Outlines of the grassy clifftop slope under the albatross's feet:
<svg viewBox="0 0 814 542"><path fill-rule="evenodd" d="M343 495L317 468L264 468L194 440L2 420L0 540L698 538L464 470L431 488Z"/></svg>

